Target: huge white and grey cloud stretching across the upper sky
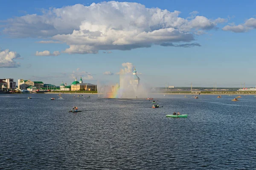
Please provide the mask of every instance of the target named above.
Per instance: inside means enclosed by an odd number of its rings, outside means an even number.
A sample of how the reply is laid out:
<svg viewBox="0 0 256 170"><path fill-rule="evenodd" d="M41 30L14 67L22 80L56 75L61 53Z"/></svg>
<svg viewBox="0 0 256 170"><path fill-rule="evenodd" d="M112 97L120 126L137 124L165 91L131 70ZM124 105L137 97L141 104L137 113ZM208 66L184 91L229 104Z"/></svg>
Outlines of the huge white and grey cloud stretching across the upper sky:
<svg viewBox="0 0 256 170"><path fill-rule="evenodd" d="M3 32L11 37L42 37L65 42L69 54L99 50L131 50L161 43L191 42L198 31L215 28L221 18L179 17L180 11L145 8L140 3L102 2L50 8L7 20ZM52 42L52 41L49 41ZM193 46L193 45L190 45Z"/></svg>

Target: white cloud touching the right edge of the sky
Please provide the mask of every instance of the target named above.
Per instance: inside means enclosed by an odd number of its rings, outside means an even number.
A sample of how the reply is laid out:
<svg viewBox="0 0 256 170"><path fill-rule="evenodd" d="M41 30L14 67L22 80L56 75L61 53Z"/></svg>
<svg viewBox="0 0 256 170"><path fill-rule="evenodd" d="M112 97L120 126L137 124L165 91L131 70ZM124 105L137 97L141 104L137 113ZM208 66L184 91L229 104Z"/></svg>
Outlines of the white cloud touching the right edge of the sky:
<svg viewBox="0 0 256 170"><path fill-rule="evenodd" d="M230 25L224 26L222 28L223 31L231 31L235 33L247 32L251 29L256 29L256 18L250 18L249 20L246 20L243 24L239 24L237 26L231 23Z"/></svg>

